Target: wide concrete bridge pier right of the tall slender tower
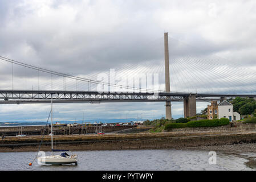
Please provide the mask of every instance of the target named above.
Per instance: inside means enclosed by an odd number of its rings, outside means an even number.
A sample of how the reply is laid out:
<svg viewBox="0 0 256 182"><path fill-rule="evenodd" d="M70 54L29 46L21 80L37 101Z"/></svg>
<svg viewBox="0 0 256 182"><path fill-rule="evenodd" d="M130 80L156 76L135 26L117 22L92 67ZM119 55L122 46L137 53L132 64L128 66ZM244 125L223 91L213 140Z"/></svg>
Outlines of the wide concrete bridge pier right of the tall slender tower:
<svg viewBox="0 0 256 182"><path fill-rule="evenodd" d="M184 118L193 117L197 115L197 102L196 95L190 94L188 97L184 97Z"/></svg>

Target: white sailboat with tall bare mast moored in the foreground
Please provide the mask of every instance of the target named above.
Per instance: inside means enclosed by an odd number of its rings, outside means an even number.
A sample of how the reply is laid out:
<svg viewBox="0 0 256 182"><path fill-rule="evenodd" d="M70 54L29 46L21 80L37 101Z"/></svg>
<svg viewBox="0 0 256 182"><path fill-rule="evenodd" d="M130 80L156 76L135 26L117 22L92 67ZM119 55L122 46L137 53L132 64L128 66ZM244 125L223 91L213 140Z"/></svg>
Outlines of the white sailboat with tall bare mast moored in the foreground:
<svg viewBox="0 0 256 182"><path fill-rule="evenodd" d="M51 99L51 134L52 134L52 99ZM53 134L52 134L53 135ZM54 150L53 149L53 139L51 135L51 155L50 156L40 156L38 157L38 162L40 164L78 164L78 155L68 155L66 152L60 155L54 155L54 151L67 151L67 150Z"/></svg>

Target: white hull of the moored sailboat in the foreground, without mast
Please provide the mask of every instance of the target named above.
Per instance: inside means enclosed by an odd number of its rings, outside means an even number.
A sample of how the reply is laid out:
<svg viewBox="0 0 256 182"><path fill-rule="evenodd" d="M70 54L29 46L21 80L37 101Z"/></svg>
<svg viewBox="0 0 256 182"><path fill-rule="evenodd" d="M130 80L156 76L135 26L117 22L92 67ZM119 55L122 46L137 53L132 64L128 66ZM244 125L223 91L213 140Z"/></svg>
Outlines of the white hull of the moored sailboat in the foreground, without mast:
<svg viewBox="0 0 256 182"><path fill-rule="evenodd" d="M78 164L77 156L64 158L60 155L51 155L38 158L42 164Z"/></svg>

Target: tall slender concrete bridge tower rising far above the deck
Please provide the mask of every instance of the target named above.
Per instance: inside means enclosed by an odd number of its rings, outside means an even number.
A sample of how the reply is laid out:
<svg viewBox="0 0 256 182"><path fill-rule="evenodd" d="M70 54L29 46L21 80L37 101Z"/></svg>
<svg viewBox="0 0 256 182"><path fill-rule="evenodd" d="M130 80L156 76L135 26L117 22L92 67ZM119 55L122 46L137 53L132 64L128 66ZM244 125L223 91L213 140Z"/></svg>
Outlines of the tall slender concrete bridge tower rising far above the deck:
<svg viewBox="0 0 256 182"><path fill-rule="evenodd" d="M165 61L165 92L170 92L168 32L164 33L164 61ZM172 119L172 108L171 108L170 101L166 101L165 103L165 118Z"/></svg>

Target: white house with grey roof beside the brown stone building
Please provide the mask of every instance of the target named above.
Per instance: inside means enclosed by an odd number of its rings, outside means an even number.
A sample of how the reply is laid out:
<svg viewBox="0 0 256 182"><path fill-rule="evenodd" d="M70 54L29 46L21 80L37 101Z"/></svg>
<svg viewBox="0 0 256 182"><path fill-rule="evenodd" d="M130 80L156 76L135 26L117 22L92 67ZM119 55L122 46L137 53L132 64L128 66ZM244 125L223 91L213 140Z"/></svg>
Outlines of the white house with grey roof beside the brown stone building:
<svg viewBox="0 0 256 182"><path fill-rule="evenodd" d="M218 118L227 118L229 121L237 121L240 120L240 114L234 112L233 105L225 100L218 105Z"/></svg>

